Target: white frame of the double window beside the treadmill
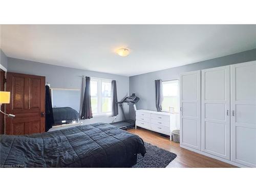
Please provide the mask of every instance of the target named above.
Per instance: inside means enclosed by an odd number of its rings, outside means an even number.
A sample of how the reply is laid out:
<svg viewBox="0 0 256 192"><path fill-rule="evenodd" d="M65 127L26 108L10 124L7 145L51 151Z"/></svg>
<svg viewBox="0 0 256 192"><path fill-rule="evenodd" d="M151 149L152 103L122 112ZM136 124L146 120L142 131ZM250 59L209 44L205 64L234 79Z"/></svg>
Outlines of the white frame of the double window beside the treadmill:
<svg viewBox="0 0 256 192"><path fill-rule="evenodd" d="M102 112L102 99L103 98L110 98L112 100L112 86L110 87L110 96L103 96L102 95L102 82L108 82L111 84L111 79L103 79L103 78L95 78L95 77L91 77L90 83L91 81L96 81L97 82L97 96L91 96L92 98L96 98L97 99L97 113L93 113L93 116L105 116L105 115L111 115L112 114L112 109L111 111L108 112Z"/></svg>

